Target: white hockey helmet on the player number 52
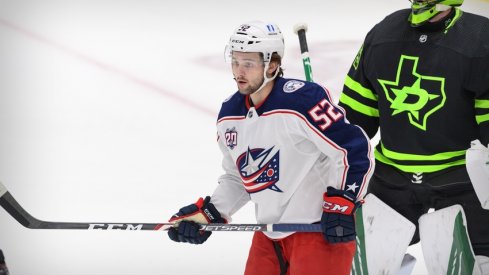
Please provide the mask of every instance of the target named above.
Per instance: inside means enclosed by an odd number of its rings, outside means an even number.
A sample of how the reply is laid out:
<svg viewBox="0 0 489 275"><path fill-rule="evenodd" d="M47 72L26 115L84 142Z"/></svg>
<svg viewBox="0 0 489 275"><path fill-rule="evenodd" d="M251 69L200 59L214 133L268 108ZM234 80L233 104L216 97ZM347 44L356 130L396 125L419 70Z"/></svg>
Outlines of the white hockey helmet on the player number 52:
<svg viewBox="0 0 489 275"><path fill-rule="evenodd" d="M229 38L225 51L226 60L230 59L233 51L260 52L263 54L263 61L269 62L274 52L281 58L284 57L284 37L276 24L250 21L241 24Z"/></svg>

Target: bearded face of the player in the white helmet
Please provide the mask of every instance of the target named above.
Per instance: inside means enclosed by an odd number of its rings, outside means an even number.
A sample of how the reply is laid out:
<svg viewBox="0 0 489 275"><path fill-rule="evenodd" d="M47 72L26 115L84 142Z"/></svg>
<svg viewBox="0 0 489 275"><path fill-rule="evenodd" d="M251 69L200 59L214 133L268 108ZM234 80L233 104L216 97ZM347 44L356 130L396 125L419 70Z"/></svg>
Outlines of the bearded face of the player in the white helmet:
<svg viewBox="0 0 489 275"><path fill-rule="evenodd" d="M233 52L231 67L241 94L249 95L256 92L265 80L265 64L259 53Z"/></svg>

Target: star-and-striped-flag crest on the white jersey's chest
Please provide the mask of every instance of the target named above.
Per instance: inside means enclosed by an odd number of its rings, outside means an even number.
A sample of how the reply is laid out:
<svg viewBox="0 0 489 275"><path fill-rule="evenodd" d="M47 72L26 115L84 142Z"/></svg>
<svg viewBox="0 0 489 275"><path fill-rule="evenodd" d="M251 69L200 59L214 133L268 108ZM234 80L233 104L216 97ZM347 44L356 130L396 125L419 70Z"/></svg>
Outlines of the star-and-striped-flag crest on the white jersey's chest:
<svg viewBox="0 0 489 275"><path fill-rule="evenodd" d="M273 148L254 148L246 150L236 160L239 174L248 193L265 189L282 192L277 187L280 179L280 151L273 153Z"/></svg>

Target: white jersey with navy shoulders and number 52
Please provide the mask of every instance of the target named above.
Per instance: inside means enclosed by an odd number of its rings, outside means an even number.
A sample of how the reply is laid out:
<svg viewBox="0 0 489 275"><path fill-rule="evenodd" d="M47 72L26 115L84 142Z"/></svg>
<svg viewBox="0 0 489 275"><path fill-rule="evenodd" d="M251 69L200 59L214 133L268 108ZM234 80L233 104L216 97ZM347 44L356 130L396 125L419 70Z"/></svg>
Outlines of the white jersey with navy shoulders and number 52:
<svg viewBox="0 0 489 275"><path fill-rule="evenodd" d="M248 97L228 98L217 121L225 174L211 201L224 218L251 200L258 223L315 223L328 186L363 197L374 168L369 139L327 90L277 78L260 106Z"/></svg>

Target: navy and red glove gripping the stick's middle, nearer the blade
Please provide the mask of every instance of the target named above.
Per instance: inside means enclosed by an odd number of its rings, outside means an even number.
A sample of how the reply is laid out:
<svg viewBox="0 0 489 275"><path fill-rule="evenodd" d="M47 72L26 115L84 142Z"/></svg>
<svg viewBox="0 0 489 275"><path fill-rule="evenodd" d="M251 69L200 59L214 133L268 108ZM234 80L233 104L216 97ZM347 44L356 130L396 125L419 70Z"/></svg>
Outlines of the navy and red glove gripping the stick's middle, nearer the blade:
<svg viewBox="0 0 489 275"><path fill-rule="evenodd" d="M200 230L200 224L226 223L210 200L209 196L205 199L199 198L196 203L181 208L171 217L169 222L177 223L177 226L168 230L172 241L202 244L212 232Z"/></svg>

